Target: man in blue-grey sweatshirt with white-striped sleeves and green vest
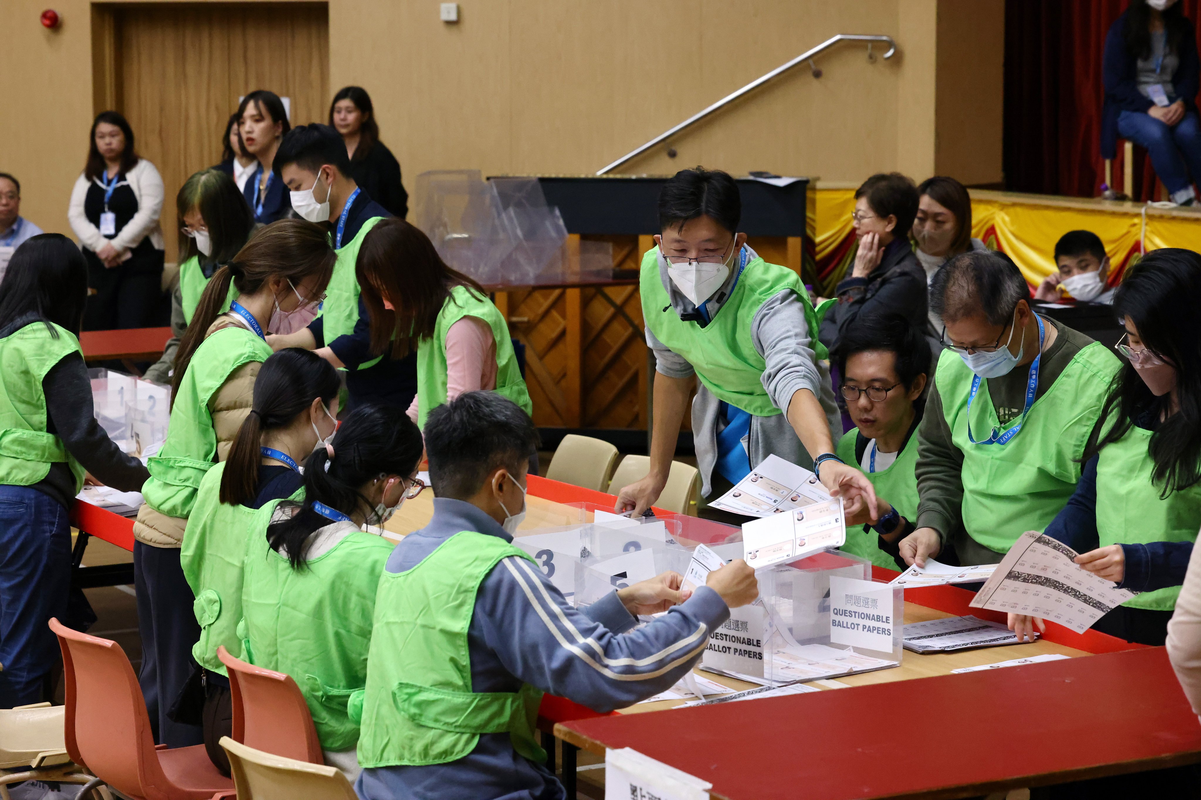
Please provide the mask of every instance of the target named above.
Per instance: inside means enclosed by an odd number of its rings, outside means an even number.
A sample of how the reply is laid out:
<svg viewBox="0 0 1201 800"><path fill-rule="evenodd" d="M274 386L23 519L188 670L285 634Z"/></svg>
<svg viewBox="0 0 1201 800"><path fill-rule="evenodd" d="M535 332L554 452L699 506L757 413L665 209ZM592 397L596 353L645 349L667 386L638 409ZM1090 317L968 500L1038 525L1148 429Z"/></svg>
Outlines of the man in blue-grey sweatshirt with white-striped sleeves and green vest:
<svg viewBox="0 0 1201 800"><path fill-rule="evenodd" d="M737 559L691 596L675 572L573 608L514 547L538 433L496 392L430 411L434 518L388 558L376 594L355 792L363 800L563 796L534 735L543 692L605 711L700 660L729 609L758 596ZM667 612L635 628L635 614ZM461 654L449 658L446 654Z"/></svg>

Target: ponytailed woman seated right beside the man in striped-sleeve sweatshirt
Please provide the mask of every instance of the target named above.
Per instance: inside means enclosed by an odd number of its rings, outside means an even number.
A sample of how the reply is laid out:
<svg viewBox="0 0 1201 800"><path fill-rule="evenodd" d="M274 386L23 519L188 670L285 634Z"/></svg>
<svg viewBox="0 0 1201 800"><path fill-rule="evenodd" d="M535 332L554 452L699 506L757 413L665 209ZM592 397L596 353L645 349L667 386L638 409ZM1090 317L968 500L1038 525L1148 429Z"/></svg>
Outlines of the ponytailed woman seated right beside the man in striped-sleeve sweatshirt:
<svg viewBox="0 0 1201 800"><path fill-rule="evenodd" d="M304 503L264 505L250 527L243 658L300 686L325 763L358 776L358 722L380 573L392 542L364 533L417 497L422 434L400 408L363 405L304 471Z"/></svg>

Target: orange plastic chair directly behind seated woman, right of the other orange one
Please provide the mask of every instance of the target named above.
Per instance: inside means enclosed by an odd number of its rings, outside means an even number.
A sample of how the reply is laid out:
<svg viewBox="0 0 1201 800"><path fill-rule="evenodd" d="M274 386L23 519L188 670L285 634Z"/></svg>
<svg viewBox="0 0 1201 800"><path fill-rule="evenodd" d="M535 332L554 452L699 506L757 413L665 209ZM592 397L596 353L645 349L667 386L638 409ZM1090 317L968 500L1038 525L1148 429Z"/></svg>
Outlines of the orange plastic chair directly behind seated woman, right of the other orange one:
<svg viewBox="0 0 1201 800"><path fill-rule="evenodd" d="M312 714L291 675L234 658L225 645L217 648L217 657L229 675L231 739L273 756L325 763Z"/></svg>

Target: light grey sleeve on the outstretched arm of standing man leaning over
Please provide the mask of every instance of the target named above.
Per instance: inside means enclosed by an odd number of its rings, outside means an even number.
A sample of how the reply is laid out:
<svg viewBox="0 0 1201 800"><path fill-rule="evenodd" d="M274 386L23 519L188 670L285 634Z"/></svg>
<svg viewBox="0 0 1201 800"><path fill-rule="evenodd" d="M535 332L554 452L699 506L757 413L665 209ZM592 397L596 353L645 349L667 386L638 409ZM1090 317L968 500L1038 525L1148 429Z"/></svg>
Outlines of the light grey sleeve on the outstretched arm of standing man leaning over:
<svg viewBox="0 0 1201 800"><path fill-rule="evenodd" d="M805 305L791 289L759 307L751 320L751 341L767 362L760 380L776 408L787 413L789 401L800 389L821 397L821 385L827 381L818 369Z"/></svg>

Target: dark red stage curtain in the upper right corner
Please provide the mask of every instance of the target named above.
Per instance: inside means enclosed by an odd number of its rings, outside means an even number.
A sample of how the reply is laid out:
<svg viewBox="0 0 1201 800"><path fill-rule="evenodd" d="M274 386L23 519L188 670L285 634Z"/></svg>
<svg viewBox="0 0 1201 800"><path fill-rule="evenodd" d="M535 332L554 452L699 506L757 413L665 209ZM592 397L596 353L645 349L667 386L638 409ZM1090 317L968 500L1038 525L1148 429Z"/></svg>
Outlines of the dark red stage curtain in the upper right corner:
<svg viewBox="0 0 1201 800"><path fill-rule="evenodd" d="M1101 160L1101 58L1105 35L1129 0L1006 0L1005 187L1097 197ZM1182 0L1201 32L1201 0ZM1122 149L1113 164L1122 175ZM1135 192L1154 199L1151 160L1135 149Z"/></svg>

